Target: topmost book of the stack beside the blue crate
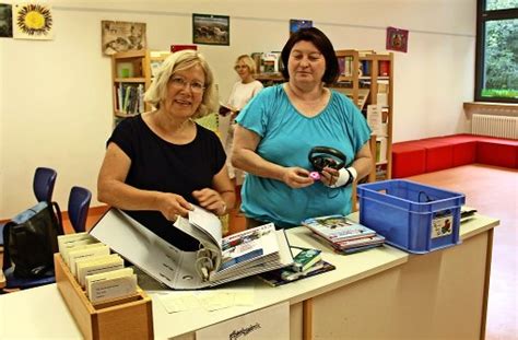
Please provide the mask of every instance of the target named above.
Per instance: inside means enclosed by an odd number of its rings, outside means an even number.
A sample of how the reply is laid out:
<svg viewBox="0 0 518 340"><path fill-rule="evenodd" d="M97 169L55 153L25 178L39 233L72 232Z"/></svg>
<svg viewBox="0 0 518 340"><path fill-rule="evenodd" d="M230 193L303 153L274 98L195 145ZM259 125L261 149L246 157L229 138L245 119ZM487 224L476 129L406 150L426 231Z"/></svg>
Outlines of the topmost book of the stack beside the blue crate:
<svg viewBox="0 0 518 340"><path fill-rule="evenodd" d="M330 243L358 237L373 236L375 231L360 223L351 222L343 215L328 215L307 219L302 225L320 235Z"/></svg>

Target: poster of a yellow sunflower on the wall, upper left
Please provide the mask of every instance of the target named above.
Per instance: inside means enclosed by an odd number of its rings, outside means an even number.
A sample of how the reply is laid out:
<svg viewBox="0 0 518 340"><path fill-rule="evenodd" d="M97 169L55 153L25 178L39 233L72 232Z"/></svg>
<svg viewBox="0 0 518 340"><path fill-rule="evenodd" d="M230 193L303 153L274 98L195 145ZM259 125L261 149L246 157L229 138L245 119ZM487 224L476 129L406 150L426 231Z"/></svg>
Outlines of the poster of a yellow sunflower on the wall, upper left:
<svg viewBox="0 0 518 340"><path fill-rule="evenodd" d="M12 11L15 39L54 39L54 20L49 4L17 3Z"/></svg>

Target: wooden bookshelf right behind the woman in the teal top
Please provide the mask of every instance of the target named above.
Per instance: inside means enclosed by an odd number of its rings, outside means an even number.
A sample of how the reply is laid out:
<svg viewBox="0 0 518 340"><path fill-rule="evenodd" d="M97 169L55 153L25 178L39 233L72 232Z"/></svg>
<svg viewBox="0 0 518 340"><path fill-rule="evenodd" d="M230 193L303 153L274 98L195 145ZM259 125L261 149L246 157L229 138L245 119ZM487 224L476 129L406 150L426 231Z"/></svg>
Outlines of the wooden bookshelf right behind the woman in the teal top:
<svg viewBox="0 0 518 340"><path fill-rule="evenodd" d="M337 50L340 77L332 86L353 101L373 130L373 171L368 181L391 178L393 55Z"/></svg>

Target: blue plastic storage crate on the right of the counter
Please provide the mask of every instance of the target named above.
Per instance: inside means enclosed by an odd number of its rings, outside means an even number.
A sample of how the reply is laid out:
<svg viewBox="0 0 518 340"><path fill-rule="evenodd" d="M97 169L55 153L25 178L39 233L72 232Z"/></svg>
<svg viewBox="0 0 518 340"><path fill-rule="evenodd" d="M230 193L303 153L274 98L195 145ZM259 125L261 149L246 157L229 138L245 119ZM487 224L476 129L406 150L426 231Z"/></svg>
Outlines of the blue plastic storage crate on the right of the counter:
<svg viewBox="0 0 518 340"><path fill-rule="evenodd" d="M404 179L360 185L360 223L395 247L425 254L460 243L462 194Z"/></svg>

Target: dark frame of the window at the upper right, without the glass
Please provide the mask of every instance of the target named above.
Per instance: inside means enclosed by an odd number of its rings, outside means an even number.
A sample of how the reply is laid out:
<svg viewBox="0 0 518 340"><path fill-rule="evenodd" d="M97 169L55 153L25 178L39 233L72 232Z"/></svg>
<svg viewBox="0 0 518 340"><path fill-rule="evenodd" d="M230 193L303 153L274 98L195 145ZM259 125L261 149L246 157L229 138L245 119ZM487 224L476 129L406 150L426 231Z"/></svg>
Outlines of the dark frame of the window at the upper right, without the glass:
<svg viewBox="0 0 518 340"><path fill-rule="evenodd" d="M482 96L485 66L485 24L495 20L518 20L518 9L485 10L486 0L476 0L475 102L518 103L516 98Z"/></svg>

